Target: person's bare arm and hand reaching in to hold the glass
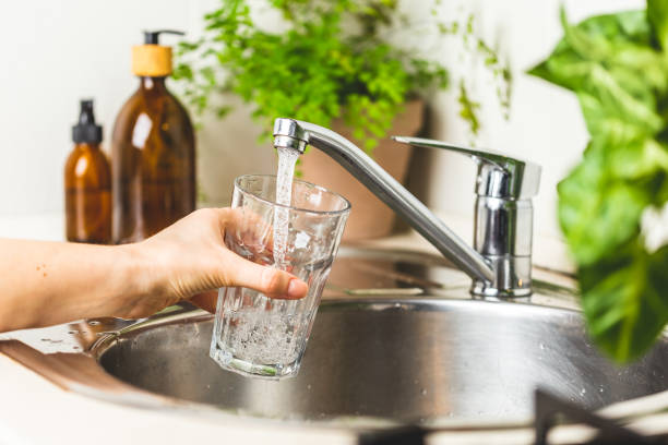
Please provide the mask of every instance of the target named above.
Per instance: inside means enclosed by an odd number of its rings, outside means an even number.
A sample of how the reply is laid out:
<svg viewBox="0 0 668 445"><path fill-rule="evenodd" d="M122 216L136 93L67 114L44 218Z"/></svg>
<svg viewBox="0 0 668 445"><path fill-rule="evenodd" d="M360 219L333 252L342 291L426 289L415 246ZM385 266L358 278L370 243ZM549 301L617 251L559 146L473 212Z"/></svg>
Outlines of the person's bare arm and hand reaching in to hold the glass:
<svg viewBox="0 0 668 445"><path fill-rule="evenodd" d="M230 252L225 232L241 237L271 227L231 208L192 213L134 244L94 245L0 239L0 332L81 318L140 318L183 299L208 311L222 286L243 286L273 298L302 298L307 285L287 272ZM248 215L247 215L248 217Z"/></svg>

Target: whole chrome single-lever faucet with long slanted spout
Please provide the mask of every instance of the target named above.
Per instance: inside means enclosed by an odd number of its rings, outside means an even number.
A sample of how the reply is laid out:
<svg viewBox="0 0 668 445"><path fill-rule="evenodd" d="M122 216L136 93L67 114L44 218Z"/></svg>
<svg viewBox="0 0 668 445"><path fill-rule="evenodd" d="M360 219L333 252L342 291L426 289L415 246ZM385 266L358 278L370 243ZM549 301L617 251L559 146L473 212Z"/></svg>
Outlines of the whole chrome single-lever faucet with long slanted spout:
<svg viewBox="0 0 668 445"><path fill-rule="evenodd" d="M284 118L274 122L275 148L291 148L302 154L311 145L327 154L465 272L473 279L473 296L530 296L534 214L530 199L538 193L540 166L493 151L419 137L393 139L419 147L462 153L478 164L475 249L350 141L310 122Z"/></svg>

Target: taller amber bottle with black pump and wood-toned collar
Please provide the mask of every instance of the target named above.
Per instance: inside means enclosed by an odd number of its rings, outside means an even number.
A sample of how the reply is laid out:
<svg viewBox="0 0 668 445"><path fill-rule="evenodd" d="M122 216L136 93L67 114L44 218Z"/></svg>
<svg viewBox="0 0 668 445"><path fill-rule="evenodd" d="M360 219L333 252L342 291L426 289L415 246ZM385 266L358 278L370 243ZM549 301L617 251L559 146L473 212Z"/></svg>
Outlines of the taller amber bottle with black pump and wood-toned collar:
<svg viewBox="0 0 668 445"><path fill-rule="evenodd" d="M114 242L140 241L195 208L194 131L188 112L165 85L171 48L163 33L145 32L132 48L140 86L118 113L111 140Z"/></svg>

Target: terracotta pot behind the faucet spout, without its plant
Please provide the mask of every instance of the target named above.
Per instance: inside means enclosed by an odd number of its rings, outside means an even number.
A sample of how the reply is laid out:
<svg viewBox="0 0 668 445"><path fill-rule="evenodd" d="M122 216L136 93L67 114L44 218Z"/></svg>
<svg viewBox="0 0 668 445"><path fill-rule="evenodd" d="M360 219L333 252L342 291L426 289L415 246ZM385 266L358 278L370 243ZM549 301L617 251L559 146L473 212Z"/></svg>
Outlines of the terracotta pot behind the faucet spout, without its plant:
<svg viewBox="0 0 668 445"><path fill-rule="evenodd" d="M424 108L422 100L407 103L404 112L392 122L389 134L415 135L422 127ZM361 143L353 137L353 131L343 120L334 121L332 129L361 147ZM387 137L374 148L373 159L397 181L404 183L411 153L413 147L398 144ZM341 193L350 201L353 208L346 224L344 241L366 240L390 234L394 227L394 212L335 160L311 148L302 156L301 171L306 181Z"/></svg>

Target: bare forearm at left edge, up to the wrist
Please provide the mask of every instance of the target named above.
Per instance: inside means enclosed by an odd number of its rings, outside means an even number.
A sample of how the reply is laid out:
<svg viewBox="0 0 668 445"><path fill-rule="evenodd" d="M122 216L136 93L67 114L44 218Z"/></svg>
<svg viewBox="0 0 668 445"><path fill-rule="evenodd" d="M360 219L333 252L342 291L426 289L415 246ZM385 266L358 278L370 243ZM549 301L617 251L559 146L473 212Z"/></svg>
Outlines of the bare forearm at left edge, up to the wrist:
<svg viewBox="0 0 668 445"><path fill-rule="evenodd" d="M132 245L0 239L0 332L112 315L150 292Z"/></svg>

